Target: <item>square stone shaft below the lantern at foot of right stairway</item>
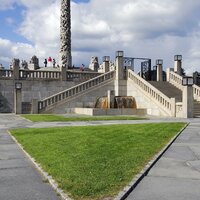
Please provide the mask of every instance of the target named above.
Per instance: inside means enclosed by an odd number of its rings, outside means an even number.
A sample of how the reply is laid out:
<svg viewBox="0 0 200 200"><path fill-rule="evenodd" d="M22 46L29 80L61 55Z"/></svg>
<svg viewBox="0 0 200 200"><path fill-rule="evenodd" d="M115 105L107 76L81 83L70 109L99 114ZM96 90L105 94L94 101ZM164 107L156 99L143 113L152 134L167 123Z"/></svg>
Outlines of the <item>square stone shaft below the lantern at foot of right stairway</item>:
<svg viewBox="0 0 200 200"><path fill-rule="evenodd" d="M183 86L182 93L183 101L183 118L193 118L193 87L192 86Z"/></svg>

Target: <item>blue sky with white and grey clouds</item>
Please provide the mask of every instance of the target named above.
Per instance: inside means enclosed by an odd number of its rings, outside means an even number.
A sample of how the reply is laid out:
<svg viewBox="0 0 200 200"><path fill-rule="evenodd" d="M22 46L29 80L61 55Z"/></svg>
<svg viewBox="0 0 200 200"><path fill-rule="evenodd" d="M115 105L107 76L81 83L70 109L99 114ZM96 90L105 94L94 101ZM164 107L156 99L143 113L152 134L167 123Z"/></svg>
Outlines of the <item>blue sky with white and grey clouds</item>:
<svg viewBox="0 0 200 200"><path fill-rule="evenodd" d="M183 55L187 72L200 71L200 0L73 0L73 63L123 50L128 57L164 59L173 67ZM1 0L0 63L59 54L60 0Z"/></svg>

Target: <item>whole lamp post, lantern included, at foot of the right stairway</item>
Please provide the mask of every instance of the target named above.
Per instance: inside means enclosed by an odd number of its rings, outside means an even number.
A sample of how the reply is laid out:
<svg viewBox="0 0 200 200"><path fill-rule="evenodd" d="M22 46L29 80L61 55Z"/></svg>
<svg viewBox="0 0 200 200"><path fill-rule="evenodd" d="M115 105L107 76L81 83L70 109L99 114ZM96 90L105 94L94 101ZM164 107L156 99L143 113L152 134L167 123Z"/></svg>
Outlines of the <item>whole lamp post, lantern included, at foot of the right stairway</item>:
<svg viewBox="0 0 200 200"><path fill-rule="evenodd" d="M192 76L184 76L182 79L183 85L183 117L184 118L192 118L193 117L193 83L194 79Z"/></svg>

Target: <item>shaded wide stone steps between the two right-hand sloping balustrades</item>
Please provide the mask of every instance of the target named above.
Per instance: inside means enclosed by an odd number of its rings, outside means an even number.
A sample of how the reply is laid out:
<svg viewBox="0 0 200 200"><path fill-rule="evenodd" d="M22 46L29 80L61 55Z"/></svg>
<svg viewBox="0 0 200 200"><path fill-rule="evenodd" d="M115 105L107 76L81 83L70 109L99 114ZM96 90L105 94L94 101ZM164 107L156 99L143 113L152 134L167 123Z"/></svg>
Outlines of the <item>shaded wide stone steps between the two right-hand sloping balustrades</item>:
<svg viewBox="0 0 200 200"><path fill-rule="evenodd" d="M169 98L175 98L176 102L182 102L182 91L173 86L171 83L163 81L163 82L156 82L156 81L149 81L151 85L161 91Z"/></svg>

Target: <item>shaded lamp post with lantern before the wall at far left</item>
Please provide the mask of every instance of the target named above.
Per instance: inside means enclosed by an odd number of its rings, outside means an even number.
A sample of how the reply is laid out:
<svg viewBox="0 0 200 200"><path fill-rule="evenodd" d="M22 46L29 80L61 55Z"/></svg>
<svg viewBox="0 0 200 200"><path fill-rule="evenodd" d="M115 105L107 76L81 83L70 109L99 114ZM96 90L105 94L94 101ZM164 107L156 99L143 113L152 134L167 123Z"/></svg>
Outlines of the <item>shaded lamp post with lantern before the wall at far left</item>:
<svg viewBox="0 0 200 200"><path fill-rule="evenodd" d="M15 83L15 93L14 93L14 109L15 114L22 113L22 83Z"/></svg>

